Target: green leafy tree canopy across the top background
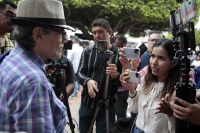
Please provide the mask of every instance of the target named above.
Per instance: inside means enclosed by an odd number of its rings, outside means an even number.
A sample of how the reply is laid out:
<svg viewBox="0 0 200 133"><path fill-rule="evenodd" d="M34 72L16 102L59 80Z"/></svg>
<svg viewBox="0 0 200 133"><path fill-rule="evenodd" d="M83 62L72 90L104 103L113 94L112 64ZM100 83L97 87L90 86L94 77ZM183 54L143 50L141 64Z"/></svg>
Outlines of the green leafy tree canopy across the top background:
<svg viewBox="0 0 200 133"><path fill-rule="evenodd" d="M19 0L13 1L17 3ZM92 39L88 32L91 30L91 23L98 18L107 19L113 32L120 34L129 32L133 36L141 36L147 29L170 32L170 11L180 7L180 3L176 3L176 0L60 1L64 5L67 23L80 29L87 39ZM200 0L195 1L198 8Z"/></svg>

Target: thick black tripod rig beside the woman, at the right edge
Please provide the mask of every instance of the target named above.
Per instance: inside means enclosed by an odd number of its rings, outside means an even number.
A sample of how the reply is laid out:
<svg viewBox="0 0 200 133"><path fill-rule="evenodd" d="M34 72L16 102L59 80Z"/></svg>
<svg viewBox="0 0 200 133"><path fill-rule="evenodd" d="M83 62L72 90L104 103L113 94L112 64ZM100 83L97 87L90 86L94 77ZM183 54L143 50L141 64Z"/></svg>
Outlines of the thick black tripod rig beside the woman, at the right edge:
<svg viewBox="0 0 200 133"><path fill-rule="evenodd" d="M175 18L173 18L173 14L175 11L171 11L171 20L174 23ZM187 26L188 29L185 31L184 29ZM189 72L190 72L190 60L188 59L188 55L190 55L190 50L195 50L195 35L194 35L194 23L187 22L185 25L175 26L173 25L173 40L175 45L179 45L177 39L179 39L181 44L181 51L179 51L179 57L175 57L174 61L181 62L181 77L182 81L176 83L176 96L189 102L195 103L196 97L196 85L189 83ZM182 106L180 103L177 105ZM175 120L175 132L176 133L198 133L199 126L193 125L187 121L183 121L180 119Z"/></svg>

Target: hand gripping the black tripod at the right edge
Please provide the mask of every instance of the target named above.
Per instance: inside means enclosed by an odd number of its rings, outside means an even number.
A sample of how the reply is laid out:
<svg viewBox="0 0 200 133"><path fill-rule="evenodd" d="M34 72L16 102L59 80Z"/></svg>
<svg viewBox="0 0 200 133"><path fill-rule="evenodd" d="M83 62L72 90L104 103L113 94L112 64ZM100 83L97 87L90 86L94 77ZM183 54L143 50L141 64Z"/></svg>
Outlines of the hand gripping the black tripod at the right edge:
<svg viewBox="0 0 200 133"><path fill-rule="evenodd" d="M176 118L195 125L200 125L200 102L198 100L196 100L194 104L188 103L178 97L175 97L174 100L184 106L172 104L174 116Z"/></svg>

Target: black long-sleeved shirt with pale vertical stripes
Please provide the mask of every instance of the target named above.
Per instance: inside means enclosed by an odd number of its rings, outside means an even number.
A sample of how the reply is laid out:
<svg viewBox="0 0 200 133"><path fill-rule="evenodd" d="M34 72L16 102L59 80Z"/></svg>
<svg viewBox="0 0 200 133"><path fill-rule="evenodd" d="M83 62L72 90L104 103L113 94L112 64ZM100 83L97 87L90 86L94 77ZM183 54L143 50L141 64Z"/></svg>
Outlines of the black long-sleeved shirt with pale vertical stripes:
<svg viewBox="0 0 200 133"><path fill-rule="evenodd" d="M116 64L119 74L121 73L121 64L119 62L119 49L112 45L110 51L114 52L112 64ZM94 109L100 99L103 99L104 89L106 84L106 67L108 59L101 59L98 56L97 45L86 47L81 56L77 78L80 84L83 85L81 103L87 108ZM98 83L98 92L95 98L90 98L87 89L87 82L93 79ZM115 103L115 93L118 90L119 77L116 79L109 79L108 99L110 107Z"/></svg>

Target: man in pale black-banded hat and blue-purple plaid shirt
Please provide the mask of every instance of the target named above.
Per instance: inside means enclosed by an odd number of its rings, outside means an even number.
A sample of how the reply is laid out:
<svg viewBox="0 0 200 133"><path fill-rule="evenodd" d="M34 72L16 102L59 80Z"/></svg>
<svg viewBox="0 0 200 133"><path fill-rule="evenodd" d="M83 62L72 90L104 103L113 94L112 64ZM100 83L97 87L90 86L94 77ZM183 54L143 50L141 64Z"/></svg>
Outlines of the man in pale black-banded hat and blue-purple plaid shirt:
<svg viewBox="0 0 200 133"><path fill-rule="evenodd" d="M58 59L67 42L63 5L58 0L22 0L16 47L0 64L0 131L62 133L66 108L45 75L44 61Z"/></svg>

